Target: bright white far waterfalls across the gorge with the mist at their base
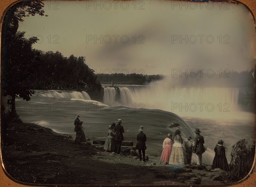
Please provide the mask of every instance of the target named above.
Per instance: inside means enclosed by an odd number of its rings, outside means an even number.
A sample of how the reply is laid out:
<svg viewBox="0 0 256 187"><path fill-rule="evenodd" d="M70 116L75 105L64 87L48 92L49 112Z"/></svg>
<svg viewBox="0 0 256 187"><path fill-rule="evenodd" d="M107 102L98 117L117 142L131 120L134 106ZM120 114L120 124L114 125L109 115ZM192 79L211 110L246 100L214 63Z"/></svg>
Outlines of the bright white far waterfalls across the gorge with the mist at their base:
<svg viewBox="0 0 256 187"><path fill-rule="evenodd" d="M117 89L120 96L117 98ZM119 86L104 88L104 103L126 103L147 109L170 111L180 116L227 116L230 111L238 111L239 88L214 87L171 87L163 85Z"/></svg>

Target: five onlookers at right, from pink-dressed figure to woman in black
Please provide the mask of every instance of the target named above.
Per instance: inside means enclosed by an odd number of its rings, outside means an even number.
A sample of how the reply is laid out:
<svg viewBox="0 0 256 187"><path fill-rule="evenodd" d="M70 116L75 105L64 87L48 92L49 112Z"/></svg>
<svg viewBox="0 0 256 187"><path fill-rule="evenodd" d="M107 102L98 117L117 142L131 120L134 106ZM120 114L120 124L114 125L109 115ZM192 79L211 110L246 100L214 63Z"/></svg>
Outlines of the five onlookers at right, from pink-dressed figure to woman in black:
<svg viewBox="0 0 256 187"><path fill-rule="evenodd" d="M195 141L192 142L191 136L186 137L187 141L183 142L180 136L180 130L175 131L174 138L171 134L167 134L167 138L163 141L163 151L161 161L166 164L184 165L191 164L192 153L196 154L197 164L202 165L202 155L205 152L204 137L200 135L199 129L195 130ZM212 169L221 168L222 170L229 170L226 158L226 150L223 146L223 141L219 140L216 145L215 157L212 163Z"/></svg>

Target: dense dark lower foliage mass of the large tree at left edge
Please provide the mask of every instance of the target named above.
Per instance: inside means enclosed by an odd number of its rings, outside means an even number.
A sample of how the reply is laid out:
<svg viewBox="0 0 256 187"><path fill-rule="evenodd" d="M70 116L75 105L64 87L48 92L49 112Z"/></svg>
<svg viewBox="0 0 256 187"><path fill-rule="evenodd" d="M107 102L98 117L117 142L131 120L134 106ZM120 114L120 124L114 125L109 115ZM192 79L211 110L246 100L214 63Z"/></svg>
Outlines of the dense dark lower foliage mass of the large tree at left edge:
<svg viewBox="0 0 256 187"><path fill-rule="evenodd" d="M9 63L6 64L8 71L3 71L2 74L6 84L3 89L9 95L19 94L24 99L29 100L28 96L31 95L31 92L26 92L27 89L26 85L23 85L23 80L33 74L37 68L39 57L32 51L32 44L37 40L36 37L27 40L24 37L24 32L17 32L14 40L11 41Z"/></svg>

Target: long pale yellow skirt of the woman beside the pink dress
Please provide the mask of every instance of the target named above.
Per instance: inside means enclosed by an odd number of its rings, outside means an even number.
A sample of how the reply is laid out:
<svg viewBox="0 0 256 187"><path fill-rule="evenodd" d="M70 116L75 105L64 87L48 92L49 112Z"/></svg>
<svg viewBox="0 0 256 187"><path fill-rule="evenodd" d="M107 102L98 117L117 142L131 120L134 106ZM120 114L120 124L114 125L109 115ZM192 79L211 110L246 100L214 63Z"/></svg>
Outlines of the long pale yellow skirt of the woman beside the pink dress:
<svg viewBox="0 0 256 187"><path fill-rule="evenodd" d="M183 150L183 147L174 147L174 146L172 146L172 152L171 152L169 164L184 165L184 150Z"/></svg>

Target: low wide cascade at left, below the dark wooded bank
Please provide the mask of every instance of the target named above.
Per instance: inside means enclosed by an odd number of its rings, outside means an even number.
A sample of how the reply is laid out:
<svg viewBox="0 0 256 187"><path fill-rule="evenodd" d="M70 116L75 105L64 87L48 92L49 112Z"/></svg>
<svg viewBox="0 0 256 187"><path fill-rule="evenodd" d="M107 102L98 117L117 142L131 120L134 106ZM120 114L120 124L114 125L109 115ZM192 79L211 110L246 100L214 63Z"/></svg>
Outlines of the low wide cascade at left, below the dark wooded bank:
<svg viewBox="0 0 256 187"><path fill-rule="evenodd" d="M86 99L91 100L90 96L85 92L73 91L73 92L58 92L51 91L49 93L40 94L43 97L52 97L52 98L67 98L67 99Z"/></svg>

